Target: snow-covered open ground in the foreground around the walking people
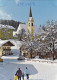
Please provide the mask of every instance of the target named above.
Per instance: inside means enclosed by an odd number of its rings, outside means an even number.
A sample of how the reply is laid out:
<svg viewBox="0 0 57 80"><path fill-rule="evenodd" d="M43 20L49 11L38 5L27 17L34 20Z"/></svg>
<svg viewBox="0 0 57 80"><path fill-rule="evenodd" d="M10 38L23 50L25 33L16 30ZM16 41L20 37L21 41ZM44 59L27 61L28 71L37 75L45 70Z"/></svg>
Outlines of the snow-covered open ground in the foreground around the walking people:
<svg viewBox="0 0 57 80"><path fill-rule="evenodd" d="M0 63L0 80L14 80L14 74L20 67L25 72L26 66L30 70L29 80L57 80L57 64L35 61L18 61L15 56L3 57ZM26 77L25 77L26 80Z"/></svg>

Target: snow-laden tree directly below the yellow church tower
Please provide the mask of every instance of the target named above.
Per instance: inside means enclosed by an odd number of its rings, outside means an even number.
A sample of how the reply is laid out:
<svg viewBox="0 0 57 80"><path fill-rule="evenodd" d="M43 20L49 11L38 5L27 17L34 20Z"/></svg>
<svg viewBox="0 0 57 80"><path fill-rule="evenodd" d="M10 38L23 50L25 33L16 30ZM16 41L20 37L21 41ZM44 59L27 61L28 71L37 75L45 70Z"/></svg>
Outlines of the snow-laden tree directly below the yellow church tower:
<svg viewBox="0 0 57 80"><path fill-rule="evenodd" d="M25 50L25 53L30 53L30 57L32 58L33 53L36 52L36 49L38 48L37 39L36 38L32 39L32 35L29 34L23 41L24 41L23 50Z"/></svg>

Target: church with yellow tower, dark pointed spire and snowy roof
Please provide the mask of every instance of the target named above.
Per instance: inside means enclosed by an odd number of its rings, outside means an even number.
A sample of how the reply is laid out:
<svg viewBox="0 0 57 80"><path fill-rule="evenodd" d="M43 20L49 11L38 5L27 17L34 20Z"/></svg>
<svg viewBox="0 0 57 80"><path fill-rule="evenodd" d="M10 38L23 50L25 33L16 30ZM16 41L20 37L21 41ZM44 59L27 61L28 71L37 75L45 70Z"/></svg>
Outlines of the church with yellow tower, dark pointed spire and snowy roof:
<svg viewBox="0 0 57 80"><path fill-rule="evenodd" d="M42 33L44 33L44 30L42 29L42 27L35 26L31 7L30 7L28 23L27 24L19 24L19 26L17 28L17 34L20 34L22 29L25 30L26 34L41 35Z"/></svg>

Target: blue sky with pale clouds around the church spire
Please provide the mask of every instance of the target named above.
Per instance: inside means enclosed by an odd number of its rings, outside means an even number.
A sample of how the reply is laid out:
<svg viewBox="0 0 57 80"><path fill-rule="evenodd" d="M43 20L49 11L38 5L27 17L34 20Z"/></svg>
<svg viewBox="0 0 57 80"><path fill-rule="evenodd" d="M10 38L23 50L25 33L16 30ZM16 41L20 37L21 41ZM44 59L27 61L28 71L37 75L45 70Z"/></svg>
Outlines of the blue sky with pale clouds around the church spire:
<svg viewBox="0 0 57 80"><path fill-rule="evenodd" d="M57 0L0 0L0 19L28 23L30 6L35 25L57 21Z"/></svg>

